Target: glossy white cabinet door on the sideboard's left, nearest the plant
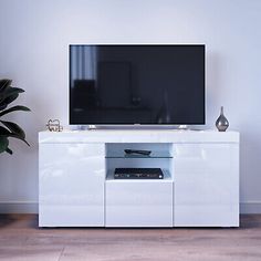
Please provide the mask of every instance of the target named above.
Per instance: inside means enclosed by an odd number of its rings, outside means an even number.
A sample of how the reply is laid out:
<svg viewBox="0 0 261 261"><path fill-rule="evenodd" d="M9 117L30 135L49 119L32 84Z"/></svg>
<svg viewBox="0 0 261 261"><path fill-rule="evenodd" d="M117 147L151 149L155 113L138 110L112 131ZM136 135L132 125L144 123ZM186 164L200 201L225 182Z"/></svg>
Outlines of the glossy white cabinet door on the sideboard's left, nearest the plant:
<svg viewBox="0 0 261 261"><path fill-rule="evenodd" d="M40 144L39 226L104 226L104 144Z"/></svg>

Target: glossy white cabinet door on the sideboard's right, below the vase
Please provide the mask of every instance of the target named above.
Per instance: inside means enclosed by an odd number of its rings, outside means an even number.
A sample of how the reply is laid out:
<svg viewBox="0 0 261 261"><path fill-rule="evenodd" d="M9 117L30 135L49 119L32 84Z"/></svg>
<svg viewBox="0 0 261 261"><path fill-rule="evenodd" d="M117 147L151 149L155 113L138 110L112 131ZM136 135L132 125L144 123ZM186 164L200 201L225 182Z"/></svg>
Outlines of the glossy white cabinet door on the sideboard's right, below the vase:
<svg viewBox="0 0 261 261"><path fill-rule="evenodd" d="M175 145L177 227L239 226L238 144Z"/></svg>

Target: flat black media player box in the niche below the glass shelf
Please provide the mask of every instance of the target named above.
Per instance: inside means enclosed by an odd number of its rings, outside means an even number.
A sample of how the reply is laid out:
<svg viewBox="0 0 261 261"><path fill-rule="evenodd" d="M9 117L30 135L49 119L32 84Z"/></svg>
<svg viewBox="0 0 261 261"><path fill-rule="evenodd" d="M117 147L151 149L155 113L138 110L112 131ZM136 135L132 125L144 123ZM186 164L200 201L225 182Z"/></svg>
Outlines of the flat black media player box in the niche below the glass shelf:
<svg viewBox="0 0 261 261"><path fill-rule="evenodd" d="M115 168L115 179L163 179L160 168Z"/></svg>

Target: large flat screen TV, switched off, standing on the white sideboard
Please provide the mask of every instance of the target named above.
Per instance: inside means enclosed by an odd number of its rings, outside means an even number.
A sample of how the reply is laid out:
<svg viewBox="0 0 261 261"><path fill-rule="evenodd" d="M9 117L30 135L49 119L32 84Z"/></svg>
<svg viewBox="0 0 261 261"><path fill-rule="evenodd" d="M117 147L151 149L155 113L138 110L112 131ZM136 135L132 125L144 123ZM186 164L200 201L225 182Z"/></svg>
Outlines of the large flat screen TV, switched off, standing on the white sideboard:
<svg viewBox="0 0 261 261"><path fill-rule="evenodd" d="M205 45L70 45L70 124L205 124Z"/></svg>

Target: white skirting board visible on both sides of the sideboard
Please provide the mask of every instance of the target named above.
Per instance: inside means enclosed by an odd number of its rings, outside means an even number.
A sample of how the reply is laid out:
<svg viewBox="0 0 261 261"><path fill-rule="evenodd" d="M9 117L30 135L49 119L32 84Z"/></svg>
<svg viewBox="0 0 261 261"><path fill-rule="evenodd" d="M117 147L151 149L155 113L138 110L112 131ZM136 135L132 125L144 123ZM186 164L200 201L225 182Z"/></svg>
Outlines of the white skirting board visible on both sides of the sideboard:
<svg viewBox="0 0 261 261"><path fill-rule="evenodd" d="M38 202L33 201L0 202L0 213L38 213ZM261 213L261 201L241 202L240 213Z"/></svg>

